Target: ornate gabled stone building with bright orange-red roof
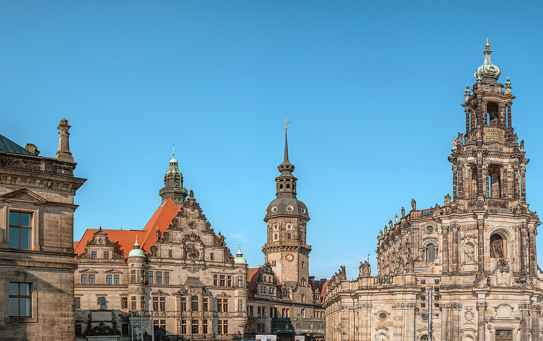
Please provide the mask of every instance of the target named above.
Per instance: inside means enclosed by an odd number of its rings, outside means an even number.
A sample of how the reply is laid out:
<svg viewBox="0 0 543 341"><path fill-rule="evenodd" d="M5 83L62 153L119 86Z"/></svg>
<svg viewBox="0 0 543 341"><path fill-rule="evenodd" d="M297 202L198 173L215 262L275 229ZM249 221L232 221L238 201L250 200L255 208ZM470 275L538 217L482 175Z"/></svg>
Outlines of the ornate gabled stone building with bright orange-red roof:
<svg viewBox="0 0 543 341"><path fill-rule="evenodd" d="M162 332L241 339L247 262L214 233L192 190L187 197L175 158L164 183L162 203L143 230L89 229L76 242L77 340Z"/></svg>

